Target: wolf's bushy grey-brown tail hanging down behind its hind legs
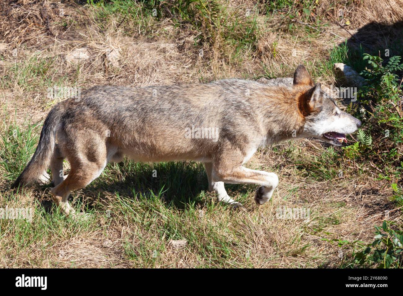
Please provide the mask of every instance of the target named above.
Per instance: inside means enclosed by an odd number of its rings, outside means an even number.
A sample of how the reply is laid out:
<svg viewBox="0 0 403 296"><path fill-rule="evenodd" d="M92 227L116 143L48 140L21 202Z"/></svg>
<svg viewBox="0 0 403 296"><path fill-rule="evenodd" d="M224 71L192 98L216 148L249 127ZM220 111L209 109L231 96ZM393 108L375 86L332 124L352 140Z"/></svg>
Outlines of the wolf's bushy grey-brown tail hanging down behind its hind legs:
<svg viewBox="0 0 403 296"><path fill-rule="evenodd" d="M27 167L12 184L12 188L37 182L43 172L48 169L55 147L55 133L60 121L57 109L57 106L54 106L46 117L38 147L36 147Z"/></svg>

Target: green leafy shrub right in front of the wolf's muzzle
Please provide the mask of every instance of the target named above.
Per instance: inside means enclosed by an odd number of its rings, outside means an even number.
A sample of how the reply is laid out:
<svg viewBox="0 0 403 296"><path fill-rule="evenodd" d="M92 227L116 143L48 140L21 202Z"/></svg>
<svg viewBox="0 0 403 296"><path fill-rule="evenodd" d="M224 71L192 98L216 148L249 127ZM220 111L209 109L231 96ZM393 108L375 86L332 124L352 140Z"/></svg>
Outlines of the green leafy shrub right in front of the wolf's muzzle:
<svg viewBox="0 0 403 296"><path fill-rule="evenodd" d="M403 161L403 112L400 57L384 62L379 56L364 54L368 62L361 75L367 84L357 93L359 105L350 106L364 122L357 132L359 144L344 148L349 159L370 160L380 168L388 167L399 178ZM390 178L390 177L388 177Z"/></svg>

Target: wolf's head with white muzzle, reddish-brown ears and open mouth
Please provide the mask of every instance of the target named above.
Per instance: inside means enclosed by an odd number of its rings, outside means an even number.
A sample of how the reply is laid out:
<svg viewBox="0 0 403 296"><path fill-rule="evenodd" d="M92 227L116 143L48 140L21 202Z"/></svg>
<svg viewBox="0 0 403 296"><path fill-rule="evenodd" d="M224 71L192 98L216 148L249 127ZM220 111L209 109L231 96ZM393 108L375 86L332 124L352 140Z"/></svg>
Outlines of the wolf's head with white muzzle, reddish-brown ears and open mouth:
<svg viewBox="0 0 403 296"><path fill-rule="evenodd" d="M314 85L304 66L297 67L293 87L299 89L299 110L305 118L301 137L314 137L340 146L346 142L346 134L351 134L361 126L357 118L341 111L336 102L321 89L320 83Z"/></svg>

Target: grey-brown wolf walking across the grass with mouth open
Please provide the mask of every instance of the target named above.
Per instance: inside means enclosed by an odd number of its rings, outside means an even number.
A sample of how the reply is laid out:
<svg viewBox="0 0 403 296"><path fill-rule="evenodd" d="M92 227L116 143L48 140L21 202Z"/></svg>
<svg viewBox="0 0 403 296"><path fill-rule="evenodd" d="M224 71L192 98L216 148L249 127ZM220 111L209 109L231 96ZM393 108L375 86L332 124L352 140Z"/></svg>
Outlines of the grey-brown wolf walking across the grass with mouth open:
<svg viewBox="0 0 403 296"><path fill-rule="evenodd" d="M50 166L57 205L74 213L68 197L100 176L109 161L201 161L209 190L239 206L224 183L258 185L255 201L270 200L278 185L272 172L243 164L259 147L314 137L334 146L361 122L341 111L304 66L292 87L228 79L208 84L96 86L80 99L66 99L49 112L38 147L14 187L36 182ZM62 174L62 161L71 165Z"/></svg>

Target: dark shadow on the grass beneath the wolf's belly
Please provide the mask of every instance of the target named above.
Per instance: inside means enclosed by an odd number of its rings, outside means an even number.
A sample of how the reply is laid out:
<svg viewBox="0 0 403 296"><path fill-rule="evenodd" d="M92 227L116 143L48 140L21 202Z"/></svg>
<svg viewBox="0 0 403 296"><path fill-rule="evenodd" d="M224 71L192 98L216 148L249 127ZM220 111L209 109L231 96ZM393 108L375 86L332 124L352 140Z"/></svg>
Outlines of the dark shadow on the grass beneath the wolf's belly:
<svg viewBox="0 0 403 296"><path fill-rule="evenodd" d="M244 184L226 184L225 187L231 197L245 195L254 188L253 185ZM176 209L185 209L193 203L204 207L216 198L208 193L206 170L201 163L148 164L127 160L120 164L108 164L103 174L77 196L80 203L85 203L85 207L91 209L94 203L108 206L110 198L116 195L128 200L160 199L166 207ZM72 196L75 194L72 193Z"/></svg>

